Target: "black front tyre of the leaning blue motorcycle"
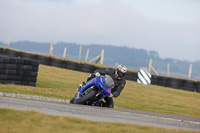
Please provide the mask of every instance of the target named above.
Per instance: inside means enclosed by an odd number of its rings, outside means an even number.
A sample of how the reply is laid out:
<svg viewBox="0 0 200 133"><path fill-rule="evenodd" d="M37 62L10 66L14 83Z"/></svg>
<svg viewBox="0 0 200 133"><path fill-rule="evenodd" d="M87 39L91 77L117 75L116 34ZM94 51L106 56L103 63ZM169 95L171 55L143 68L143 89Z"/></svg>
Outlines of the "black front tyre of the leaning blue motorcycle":
<svg viewBox="0 0 200 133"><path fill-rule="evenodd" d="M86 95L81 96L78 100L75 101L75 104L83 104L88 99L93 98L97 94L96 89L92 89L90 92L88 92Z"/></svg>

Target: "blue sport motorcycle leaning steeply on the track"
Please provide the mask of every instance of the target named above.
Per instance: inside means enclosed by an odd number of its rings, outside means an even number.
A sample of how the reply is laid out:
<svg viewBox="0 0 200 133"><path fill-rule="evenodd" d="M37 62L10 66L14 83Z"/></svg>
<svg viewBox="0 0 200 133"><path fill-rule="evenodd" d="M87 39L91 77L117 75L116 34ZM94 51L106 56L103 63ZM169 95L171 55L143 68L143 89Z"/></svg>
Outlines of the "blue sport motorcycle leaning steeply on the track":
<svg viewBox="0 0 200 133"><path fill-rule="evenodd" d="M114 81L109 75L95 77L77 89L72 103L94 105L104 97L110 96L112 88L114 88Z"/></svg>

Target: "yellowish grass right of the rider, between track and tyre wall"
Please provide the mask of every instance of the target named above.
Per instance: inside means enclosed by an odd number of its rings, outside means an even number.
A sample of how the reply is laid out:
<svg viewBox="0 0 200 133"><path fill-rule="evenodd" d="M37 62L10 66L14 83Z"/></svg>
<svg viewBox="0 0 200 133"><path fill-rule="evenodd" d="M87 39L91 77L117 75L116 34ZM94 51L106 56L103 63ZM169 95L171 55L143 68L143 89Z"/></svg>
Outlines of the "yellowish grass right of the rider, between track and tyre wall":
<svg viewBox="0 0 200 133"><path fill-rule="evenodd" d="M128 82L118 108L200 117L200 94ZM125 103L125 104L124 104Z"/></svg>

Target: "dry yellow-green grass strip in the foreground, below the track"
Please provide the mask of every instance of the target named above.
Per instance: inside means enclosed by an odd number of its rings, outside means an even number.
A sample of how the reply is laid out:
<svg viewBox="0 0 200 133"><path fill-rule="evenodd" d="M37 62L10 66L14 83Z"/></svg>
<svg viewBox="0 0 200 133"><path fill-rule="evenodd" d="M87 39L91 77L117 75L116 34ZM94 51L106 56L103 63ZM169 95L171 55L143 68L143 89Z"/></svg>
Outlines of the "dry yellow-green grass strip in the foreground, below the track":
<svg viewBox="0 0 200 133"><path fill-rule="evenodd" d="M93 122L73 117L45 115L36 111L0 109L1 133L196 133L133 124Z"/></svg>

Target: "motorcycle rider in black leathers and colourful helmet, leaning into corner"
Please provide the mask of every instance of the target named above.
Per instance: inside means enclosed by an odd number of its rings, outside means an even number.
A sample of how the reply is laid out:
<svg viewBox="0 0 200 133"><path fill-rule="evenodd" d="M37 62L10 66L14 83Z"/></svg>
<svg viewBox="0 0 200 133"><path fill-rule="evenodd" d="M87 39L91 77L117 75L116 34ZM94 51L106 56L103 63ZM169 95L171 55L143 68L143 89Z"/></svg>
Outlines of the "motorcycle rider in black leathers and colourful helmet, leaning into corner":
<svg viewBox="0 0 200 133"><path fill-rule="evenodd" d="M113 97L118 97L120 95L121 91L124 89L124 86L126 84L126 80L125 80L124 76L126 75L126 73L127 73L126 66L119 65L116 70L114 70L112 68L107 68L105 70L96 70L94 73L92 73L88 76L87 81L89 81L90 79L95 78L97 76L109 75L115 83L115 86L111 91L111 95L109 97L104 98L106 103L101 102L102 105L99 105L99 106L109 107L109 108L114 107Z"/></svg>

